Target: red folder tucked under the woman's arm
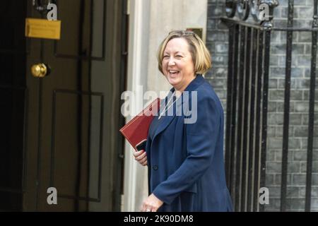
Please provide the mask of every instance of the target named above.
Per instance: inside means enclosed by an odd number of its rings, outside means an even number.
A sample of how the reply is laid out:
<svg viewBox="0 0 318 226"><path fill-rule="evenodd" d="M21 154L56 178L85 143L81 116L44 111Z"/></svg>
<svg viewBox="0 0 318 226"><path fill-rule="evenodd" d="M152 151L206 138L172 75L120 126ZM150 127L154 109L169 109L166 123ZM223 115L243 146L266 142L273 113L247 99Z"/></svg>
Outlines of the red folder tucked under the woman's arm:
<svg viewBox="0 0 318 226"><path fill-rule="evenodd" d="M160 98L157 98L119 130L135 150L145 148L149 126L155 114L158 113L159 107Z"/></svg>

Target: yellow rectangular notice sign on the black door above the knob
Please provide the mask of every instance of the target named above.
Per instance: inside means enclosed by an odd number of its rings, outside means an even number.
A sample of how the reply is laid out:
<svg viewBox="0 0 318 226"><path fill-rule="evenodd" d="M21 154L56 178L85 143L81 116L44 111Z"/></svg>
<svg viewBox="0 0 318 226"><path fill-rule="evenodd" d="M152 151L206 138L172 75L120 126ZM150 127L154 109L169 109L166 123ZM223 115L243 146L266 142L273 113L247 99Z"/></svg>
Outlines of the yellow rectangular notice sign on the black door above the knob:
<svg viewBox="0 0 318 226"><path fill-rule="evenodd" d="M25 18L25 36L59 40L61 20Z"/></svg>

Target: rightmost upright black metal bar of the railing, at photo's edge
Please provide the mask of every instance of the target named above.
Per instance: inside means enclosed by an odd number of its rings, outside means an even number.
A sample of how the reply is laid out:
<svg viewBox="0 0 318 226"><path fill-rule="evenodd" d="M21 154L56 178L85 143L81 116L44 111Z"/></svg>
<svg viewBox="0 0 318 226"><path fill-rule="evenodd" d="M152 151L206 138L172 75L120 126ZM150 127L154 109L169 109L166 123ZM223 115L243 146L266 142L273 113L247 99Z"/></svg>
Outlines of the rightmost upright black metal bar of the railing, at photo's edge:
<svg viewBox="0 0 318 226"><path fill-rule="evenodd" d="M312 28L318 27L317 0L314 0L314 16ZM308 140L307 140L307 172L306 172L306 194L305 211L310 211L312 197L312 147L314 142L314 91L316 83L316 64L317 64L317 31L312 32L312 62L310 76L310 107L308 121Z"/></svg>

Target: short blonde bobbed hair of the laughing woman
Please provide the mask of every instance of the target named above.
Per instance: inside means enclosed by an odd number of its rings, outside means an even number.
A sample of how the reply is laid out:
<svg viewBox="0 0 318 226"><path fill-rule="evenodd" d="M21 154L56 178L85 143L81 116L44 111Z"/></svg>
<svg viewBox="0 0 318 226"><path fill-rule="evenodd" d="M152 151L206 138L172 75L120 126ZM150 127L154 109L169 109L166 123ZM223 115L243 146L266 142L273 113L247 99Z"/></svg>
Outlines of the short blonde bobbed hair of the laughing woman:
<svg viewBox="0 0 318 226"><path fill-rule="evenodd" d="M196 35L196 33L189 30L173 30L165 37L163 42L161 42L158 49L158 69L161 73L163 73L163 53L165 52L165 47L170 40L177 37L184 38L189 44L189 52L192 55L194 72L196 74L204 74L208 69L211 69L211 54L208 52L208 49L201 38Z"/></svg>

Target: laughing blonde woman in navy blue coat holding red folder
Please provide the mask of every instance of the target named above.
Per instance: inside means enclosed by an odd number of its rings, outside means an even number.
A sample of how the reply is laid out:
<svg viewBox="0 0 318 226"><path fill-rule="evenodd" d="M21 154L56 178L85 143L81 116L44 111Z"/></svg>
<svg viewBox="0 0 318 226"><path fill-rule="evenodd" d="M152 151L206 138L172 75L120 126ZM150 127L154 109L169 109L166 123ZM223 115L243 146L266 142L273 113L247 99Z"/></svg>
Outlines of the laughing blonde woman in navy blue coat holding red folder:
<svg viewBox="0 0 318 226"><path fill-rule="evenodd" d="M170 32L160 44L158 68L173 88L151 123L146 152L134 153L148 165L150 196L141 210L232 211L223 165L223 108L201 76L211 68L204 42L191 31ZM192 108L195 121L177 114L177 100Z"/></svg>

